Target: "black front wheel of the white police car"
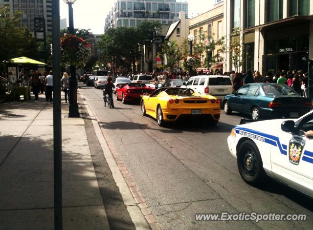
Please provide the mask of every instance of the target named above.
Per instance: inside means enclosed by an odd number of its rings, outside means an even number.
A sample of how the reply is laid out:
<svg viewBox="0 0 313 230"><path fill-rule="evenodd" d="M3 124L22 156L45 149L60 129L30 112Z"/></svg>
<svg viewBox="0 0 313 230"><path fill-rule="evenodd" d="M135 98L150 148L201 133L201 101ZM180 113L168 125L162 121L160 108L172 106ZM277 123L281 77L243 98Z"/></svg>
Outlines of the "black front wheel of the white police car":
<svg viewBox="0 0 313 230"><path fill-rule="evenodd" d="M237 165L244 181L252 186L263 182L265 171L258 147L252 141L244 141L238 149Z"/></svg>

